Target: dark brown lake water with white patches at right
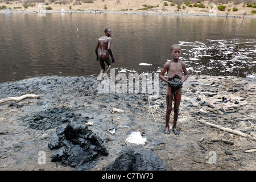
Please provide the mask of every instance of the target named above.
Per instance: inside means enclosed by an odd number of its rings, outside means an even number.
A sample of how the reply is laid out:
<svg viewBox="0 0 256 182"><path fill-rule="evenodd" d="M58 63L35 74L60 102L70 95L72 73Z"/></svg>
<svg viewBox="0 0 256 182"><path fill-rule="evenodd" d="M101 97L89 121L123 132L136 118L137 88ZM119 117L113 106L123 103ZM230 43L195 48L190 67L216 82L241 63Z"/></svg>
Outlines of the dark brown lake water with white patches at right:
<svg viewBox="0 0 256 182"><path fill-rule="evenodd" d="M141 14L0 14L0 82L100 73L94 49L111 28L116 72L160 72L179 43L189 75L255 75L256 19ZM228 46L238 40L251 46ZM224 27L225 24L225 27ZM79 34L77 31L79 29ZM223 29L223 30L222 30ZM221 32L222 31L222 32Z"/></svg>

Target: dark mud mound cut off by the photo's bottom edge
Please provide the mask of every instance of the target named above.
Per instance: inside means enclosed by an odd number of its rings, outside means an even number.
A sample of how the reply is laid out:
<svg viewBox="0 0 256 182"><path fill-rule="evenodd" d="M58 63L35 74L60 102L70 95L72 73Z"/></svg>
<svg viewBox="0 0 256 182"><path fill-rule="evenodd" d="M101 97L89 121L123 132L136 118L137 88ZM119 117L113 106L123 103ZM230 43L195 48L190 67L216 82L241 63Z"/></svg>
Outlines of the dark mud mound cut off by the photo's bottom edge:
<svg viewBox="0 0 256 182"><path fill-rule="evenodd" d="M133 149L124 149L109 166L102 168L106 171L165 171L162 160L152 150L134 152Z"/></svg>

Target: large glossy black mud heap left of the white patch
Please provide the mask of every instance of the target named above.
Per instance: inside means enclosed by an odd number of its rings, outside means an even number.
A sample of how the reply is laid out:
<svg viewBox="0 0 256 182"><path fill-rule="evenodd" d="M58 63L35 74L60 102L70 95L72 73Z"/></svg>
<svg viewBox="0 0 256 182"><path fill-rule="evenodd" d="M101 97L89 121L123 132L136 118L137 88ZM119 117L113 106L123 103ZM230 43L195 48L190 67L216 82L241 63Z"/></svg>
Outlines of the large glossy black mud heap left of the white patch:
<svg viewBox="0 0 256 182"><path fill-rule="evenodd" d="M87 170L94 167L97 156L108 155L102 140L87 126L71 121L65 129L57 127L56 133L58 138L48 143L51 150L57 149L51 162L60 161L64 166Z"/></svg>

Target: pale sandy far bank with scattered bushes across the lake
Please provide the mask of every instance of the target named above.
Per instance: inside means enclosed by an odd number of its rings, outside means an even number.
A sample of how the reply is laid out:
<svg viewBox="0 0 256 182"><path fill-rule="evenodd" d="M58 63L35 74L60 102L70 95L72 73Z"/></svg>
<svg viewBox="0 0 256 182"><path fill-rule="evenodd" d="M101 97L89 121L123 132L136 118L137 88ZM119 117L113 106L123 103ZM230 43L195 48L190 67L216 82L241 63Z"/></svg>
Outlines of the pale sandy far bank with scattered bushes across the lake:
<svg viewBox="0 0 256 182"><path fill-rule="evenodd" d="M46 4L45 4L46 3ZM0 3L0 6L6 6L7 11L0 10L0 14L16 14L16 13L105 13L105 14L143 14L143 15L183 15L183 16L213 16L213 17L234 17L234 18L245 18L255 19L256 16L251 14L252 10L255 10L253 7L246 7L243 2L238 5L235 5L233 2L223 4L226 6L225 11L220 11L216 7L214 14L210 14L212 9L208 7L210 1L202 1L205 5L204 8L200 7L189 7L184 4L184 9L177 9L175 6L164 6L164 1L159 0L137 0L136 2L130 2L129 0L121 0L119 3L117 1L93 1L93 3L61 3L61 2L44 2L43 7L51 7L52 10L46 10L42 7L42 3L27 3L27 9L24 9L24 3L14 1L5 3ZM170 2L168 2L170 3ZM146 6L154 6L154 8L147 9L143 8ZM232 11L236 7L237 11Z"/></svg>

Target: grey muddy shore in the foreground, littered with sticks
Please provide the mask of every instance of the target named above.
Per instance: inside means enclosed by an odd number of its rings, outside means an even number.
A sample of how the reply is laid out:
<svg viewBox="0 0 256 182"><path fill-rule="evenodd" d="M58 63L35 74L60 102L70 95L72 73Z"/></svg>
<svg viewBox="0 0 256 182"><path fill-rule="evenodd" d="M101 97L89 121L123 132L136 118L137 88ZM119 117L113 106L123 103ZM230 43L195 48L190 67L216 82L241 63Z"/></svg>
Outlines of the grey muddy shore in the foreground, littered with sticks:
<svg viewBox="0 0 256 182"><path fill-rule="evenodd" d="M4 82L0 84L0 100L24 94L39 94L40 98L0 105L0 170L75 170L51 162L56 150L48 147L56 138L56 128L71 121L88 127L109 153L98 155L87 170L102 170L126 148L133 148L135 153L154 151L166 170L255 170L256 153L245 152L256 148L254 140L200 122L256 135L255 89L255 77L189 76L183 84L180 135L172 131L166 135L166 84L160 80L159 96L154 100L142 93L98 93L94 76L43 76ZM108 131L113 127L114 134ZM131 131L138 131L146 142L126 142ZM46 154L46 164L39 164L40 151ZM216 160L211 163L213 157Z"/></svg>

